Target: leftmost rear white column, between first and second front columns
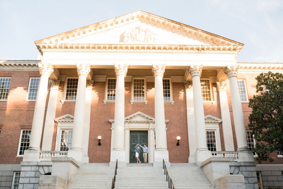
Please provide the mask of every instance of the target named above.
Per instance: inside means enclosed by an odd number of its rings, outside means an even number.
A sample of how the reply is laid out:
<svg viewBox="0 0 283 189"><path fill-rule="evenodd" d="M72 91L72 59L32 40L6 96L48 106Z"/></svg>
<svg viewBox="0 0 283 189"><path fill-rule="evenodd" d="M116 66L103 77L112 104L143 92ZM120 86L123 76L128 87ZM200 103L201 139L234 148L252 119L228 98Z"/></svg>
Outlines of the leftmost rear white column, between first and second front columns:
<svg viewBox="0 0 283 189"><path fill-rule="evenodd" d="M42 138L42 151L51 151L53 131L54 131L54 119L56 114L57 94L59 89L60 80L49 80L50 94L47 105L44 132Z"/></svg>

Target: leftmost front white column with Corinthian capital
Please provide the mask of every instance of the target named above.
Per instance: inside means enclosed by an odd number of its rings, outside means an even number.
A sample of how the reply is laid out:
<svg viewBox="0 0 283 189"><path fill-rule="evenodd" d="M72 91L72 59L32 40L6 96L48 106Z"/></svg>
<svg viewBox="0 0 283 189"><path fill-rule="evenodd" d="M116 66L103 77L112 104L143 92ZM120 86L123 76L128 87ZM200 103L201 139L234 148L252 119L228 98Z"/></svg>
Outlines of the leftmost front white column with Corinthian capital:
<svg viewBox="0 0 283 189"><path fill-rule="evenodd" d="M42 135L43 119L47 97L48 78L53 72L51 64L38 62L40 82L34 107L31 137L28 149L24 152L23 161L39 161L40 140Z"/></svg>

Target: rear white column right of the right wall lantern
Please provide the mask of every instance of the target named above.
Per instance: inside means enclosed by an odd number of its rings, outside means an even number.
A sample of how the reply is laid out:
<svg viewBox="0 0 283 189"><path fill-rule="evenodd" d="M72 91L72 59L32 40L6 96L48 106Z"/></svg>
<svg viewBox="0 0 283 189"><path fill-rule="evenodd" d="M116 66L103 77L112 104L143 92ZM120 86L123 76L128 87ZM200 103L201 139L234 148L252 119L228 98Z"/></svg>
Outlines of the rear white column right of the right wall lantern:
<svg viewBox="0 0 283 189"><path fill-rule="evenodd" d="M197 149L196 139L196 126L195 126L195 114L193 110L193 84L192 82L184 83L186 90L186 104L187 104L187 125L189 136L189 163L195 162L195 152Z"/></svg>

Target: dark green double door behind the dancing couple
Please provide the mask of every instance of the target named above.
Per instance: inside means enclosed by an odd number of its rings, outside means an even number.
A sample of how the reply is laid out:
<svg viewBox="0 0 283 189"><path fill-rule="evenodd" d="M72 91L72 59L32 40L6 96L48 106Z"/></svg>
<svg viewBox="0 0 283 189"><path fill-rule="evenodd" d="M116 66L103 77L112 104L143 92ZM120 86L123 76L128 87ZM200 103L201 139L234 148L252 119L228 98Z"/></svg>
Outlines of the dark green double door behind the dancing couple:
<svg viewBox="0 0 283 189"><path fill-rule="evenodd" d="M135 152L135 146L137 144L140 144L141 146L144 146L144 144L146 144L146 146L148 147L148 131L130 131L130 163L137 163ZM141 153L139 153L139 160L144 163L142 148Z"/></svg>

